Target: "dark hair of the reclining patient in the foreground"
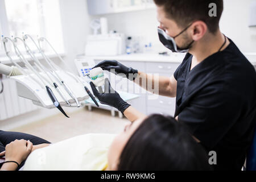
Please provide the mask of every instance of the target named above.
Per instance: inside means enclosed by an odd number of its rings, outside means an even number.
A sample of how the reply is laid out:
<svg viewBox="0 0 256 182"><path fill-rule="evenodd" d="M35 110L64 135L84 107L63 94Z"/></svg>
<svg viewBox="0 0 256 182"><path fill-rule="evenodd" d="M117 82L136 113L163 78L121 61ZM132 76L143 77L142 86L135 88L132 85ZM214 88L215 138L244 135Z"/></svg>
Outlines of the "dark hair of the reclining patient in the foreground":
<svg viewBox="0 0 256 182"><path fill-rule="evenodd" d="M173 117L150 115L131 136L118 170L210 170L204 148Z"/></svg>

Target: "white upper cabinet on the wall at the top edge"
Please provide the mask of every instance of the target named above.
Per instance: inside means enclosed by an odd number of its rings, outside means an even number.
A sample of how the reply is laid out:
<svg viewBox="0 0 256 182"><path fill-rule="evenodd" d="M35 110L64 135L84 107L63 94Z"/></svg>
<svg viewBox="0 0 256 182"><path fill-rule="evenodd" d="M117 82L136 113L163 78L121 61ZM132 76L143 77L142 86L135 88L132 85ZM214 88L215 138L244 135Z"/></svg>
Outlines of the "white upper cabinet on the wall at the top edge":
<svg viewBox="0 0 256 182"><path fill-rule="evenodd" d="M155 7L153 0L87 0L90 15L122 13L152 9Z"/></svg>

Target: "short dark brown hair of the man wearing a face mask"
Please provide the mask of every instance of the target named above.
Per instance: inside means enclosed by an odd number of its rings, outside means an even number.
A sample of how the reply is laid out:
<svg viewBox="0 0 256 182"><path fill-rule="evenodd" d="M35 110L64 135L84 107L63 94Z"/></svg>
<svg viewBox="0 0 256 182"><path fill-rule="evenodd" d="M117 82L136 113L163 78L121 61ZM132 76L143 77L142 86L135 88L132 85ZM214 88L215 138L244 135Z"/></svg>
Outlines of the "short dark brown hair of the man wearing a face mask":
<svg viewBox="0 0 256 182"><path fill-rule="evenodd" d="M187 27L194 20L202 20L213 34L219 28L223 11L223 0L154 0L157 6L163 6L167 18L175 20L180 27ZM210 3L216 4L216 16L209 16Z"/></svg>

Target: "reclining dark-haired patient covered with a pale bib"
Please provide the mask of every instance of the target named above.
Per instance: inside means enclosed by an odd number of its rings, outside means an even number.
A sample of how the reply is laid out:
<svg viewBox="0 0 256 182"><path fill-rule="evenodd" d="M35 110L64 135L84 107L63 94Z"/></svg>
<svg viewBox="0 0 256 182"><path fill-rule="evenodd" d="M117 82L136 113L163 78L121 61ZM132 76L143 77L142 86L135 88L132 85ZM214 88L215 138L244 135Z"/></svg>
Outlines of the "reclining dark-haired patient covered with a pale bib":
<svg viewBox="0 0 256 182"><path fill-rule="evenodd" d="M32 135L0 131L0 144L0 151L5 150L0 155L10 161L1 170L211 169L206 152L187 129L160 114L137 119L118 135L85 134L49 144Z"/></svg>

